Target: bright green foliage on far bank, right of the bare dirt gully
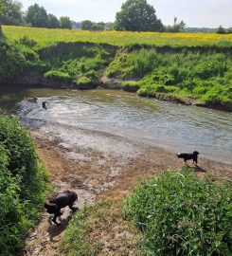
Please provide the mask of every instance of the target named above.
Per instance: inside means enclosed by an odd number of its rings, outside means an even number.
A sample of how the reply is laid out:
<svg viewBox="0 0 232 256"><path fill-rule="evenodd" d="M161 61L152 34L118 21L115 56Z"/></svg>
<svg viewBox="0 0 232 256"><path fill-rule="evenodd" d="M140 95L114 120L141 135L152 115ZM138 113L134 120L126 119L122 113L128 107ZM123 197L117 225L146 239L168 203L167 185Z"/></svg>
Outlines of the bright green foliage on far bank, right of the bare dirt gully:
<svg viewBox="0 0 232 256"><path fill-rule="evenodd" d="M223 53L157 53L154 49L118 52L106 75L125 80L122 86L140 96L164 100L191 98L206 104L232 107L232 59ZM136 79L134 86L127 80ZM126 85L126 86L125 86ZM129 86L128 86L129 85ZM160 94L162 93L162 95Z"/></svg>

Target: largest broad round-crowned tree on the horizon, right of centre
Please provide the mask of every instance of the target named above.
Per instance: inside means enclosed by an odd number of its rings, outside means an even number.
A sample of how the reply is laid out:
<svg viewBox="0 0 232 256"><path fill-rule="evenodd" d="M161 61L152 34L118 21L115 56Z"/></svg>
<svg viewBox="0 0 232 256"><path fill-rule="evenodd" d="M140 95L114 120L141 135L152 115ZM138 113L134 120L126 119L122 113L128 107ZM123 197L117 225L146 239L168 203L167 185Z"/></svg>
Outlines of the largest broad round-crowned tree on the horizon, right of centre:
<svg viewBox="0 0 232 256"><path fill-rule="evenodd" d="M164 26L147 0L127 0L116 13L116 30L164 31Z"/></svg>

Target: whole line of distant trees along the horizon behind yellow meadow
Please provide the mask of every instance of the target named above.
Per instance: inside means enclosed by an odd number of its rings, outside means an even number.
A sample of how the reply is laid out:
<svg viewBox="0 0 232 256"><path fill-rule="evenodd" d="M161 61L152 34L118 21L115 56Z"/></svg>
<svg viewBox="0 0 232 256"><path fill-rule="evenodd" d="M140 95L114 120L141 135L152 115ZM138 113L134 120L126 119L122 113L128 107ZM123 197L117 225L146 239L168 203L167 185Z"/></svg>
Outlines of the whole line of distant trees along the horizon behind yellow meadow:
<svg viewBox="0 0 232 256"><path fill-rule="evenodd" d="M155 9L152 5L148 4L147 0L127 0L122 4L121 9L116 12L115 22L96 23L90 20L74 22L67 16L62 16L58 19L53 14L47 14L45 8L40 7L38 4L31 5L24 12L21 2L17 0L0 0L0 26L2 24L48 28L76 28L92 31L130 30L172 33L201 31L201 28L196 27L187 30L185 22L183 20L178 21L176 17L174 17L172 26L164 26L162 21L157 18L155 12ZM202 31L225 34L231 33L232 28L225 29L220 26L218 29L204 28Z"/></svg>

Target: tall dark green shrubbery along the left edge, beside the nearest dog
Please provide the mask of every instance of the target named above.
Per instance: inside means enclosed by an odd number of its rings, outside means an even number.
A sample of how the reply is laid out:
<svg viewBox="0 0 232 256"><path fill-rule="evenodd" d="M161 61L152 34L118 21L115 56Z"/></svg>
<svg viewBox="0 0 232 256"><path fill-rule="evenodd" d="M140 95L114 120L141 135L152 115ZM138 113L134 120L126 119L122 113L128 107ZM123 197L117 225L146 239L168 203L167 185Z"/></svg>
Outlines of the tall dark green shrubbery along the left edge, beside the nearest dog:
<svg viewBox="0 0 232 256"><path fill-rule="evenodd" d="M40 218L47 176L27 131L16 119L0 117L0 247L15 255Z"/></svg>

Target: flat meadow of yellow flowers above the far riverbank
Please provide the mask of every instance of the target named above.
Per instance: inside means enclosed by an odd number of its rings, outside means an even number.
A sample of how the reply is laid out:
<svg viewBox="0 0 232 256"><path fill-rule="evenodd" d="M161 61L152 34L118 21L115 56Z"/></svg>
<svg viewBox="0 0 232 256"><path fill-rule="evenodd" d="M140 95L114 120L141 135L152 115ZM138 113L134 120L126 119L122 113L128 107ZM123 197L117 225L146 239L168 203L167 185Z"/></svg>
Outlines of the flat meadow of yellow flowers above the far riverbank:
<svg viewBox="0 0 232 256"><path fill-rule="evenodd" d="M113 46L232 46L232 34L84 31L13 26L4 26L3 31L9 40L27 36L37 41L39 47L58 42L104 43Z"/></svg>

